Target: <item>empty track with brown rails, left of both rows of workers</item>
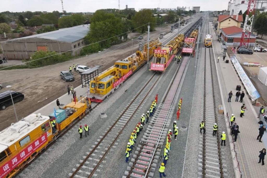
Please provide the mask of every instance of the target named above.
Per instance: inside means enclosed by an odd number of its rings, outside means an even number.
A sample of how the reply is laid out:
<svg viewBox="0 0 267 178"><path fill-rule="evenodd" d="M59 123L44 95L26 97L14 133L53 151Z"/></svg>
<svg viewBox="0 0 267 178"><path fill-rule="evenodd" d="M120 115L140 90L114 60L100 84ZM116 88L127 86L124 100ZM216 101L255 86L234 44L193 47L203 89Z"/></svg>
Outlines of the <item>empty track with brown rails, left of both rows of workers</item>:
<svg viewBox="0 0 267 178"><path fill-rule="evenodd" d="M69 173L70 177L82 178L92 177L93 175L97 176L95 171L103 161L105 155L111 148L116 147L114 146L116 140L134 117L135 113L147 101L161 78L162 75L157 74L153 74L150 77L105 134L97 140L98 142L95 142L95 145L92 145L90 152L87 152L83 156L84 160L80 160L80 164L76 165L77 168L73 168L73 173Z"/></svg>

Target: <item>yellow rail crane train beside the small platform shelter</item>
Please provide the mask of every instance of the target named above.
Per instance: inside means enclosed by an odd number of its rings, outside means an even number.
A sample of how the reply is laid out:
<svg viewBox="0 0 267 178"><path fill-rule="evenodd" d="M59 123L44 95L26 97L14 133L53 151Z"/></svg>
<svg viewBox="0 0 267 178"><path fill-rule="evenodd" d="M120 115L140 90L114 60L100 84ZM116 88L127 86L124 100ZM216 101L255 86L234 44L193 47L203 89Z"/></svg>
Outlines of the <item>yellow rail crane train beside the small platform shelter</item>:
<svg viewBox="0 0 267 178"><path fill-rule="evenodd" d="M161 42L151 41L149 46L149 58L151 58L154 56L154 52L161 46ZM135 54L135 56L129 57L128 60L116 61L114 66L91 80L89 98L92 102L102 102L123 81L147 62L147 44L144 45L142 52L136 51Z"/></svg>

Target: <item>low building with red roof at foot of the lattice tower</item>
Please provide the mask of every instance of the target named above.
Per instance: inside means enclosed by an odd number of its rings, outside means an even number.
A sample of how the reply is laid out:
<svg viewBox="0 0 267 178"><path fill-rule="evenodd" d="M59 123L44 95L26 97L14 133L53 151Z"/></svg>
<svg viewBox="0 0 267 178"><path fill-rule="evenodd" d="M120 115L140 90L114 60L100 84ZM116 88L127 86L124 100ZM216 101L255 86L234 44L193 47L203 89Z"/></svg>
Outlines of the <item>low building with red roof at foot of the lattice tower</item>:
<svg viewBox="0 0 267 178"><path fill-rule="evenodd" d="M243 29L237 26L230 26L221 29L221 41L226 42L225 45L229 46L239 46L241 37L242 37ZM248 32L246 32L248 34ZM250 34L249 38L249 46L253 46L256 40L256 35ZM245 42L247 42L245 40Z"/></svg>

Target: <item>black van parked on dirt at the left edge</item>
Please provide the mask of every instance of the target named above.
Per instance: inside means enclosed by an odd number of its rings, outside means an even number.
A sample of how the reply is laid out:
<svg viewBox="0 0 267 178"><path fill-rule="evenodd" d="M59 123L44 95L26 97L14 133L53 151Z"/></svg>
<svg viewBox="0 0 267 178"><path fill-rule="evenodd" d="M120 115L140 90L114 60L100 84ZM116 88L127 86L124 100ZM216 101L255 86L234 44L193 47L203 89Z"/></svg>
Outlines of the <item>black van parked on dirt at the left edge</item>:
<svg viewBox="0 0 267 178"><path fill-rule="evenodd" d="M24 95L21 92L10 91L12 99L15 102L22 101ZM9 91L0 93L0 109L4 110L7 106L12 105L12 100Z"/></svg>

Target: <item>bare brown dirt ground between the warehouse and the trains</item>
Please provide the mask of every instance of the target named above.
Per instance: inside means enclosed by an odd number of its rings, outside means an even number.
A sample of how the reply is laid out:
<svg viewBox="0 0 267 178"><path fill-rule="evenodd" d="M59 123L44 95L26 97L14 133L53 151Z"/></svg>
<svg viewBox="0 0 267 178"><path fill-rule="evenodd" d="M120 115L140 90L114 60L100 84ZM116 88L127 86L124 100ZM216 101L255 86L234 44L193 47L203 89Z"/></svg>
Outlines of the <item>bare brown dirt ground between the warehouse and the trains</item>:
<svg viewBox="0 0 267 178"><path fill-rule="evenodd" d="M158 39L160 33L164 32L170 32L170 25L155 28L155 31L150 33L150 39ZM147 34L144 35L143 40L146 39ZM133 40L133 53L138 50L138 44L140 43L137 40ZM5 87L11 85L11 90L20 91L25 95L22 102L15 103L17 116L21 119L65 94L67 92L67 85L72 84L74 87L81 85L81 77L78 73L74 72L75 81L66 83L60 79L60 71L68 71L69 66L78 63L88 67L101 64L103 65L102 70L105 70L112 66L115 61L125 59L131 53L132 42L128 40L122 44L114 45L101 53L64 63L34 69L0 70L1 82L3 84L1 92L6 91L7 88ZM16 122L12 106L7 107L5 110L0 110L0 115L0 130Z"/></svg>

